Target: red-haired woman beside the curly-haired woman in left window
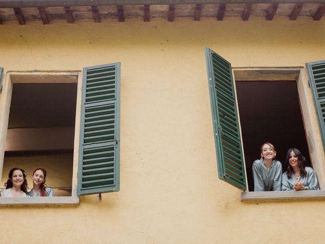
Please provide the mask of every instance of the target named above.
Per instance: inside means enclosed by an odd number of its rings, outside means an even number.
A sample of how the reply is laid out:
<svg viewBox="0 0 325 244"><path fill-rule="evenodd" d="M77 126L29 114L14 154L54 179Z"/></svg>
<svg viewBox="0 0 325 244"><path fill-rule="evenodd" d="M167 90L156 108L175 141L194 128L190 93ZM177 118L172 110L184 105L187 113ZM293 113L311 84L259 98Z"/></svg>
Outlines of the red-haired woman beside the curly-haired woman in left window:
<svg viewBox="0 0 325 244"><path fill-rule="evenodd" d="M45 185L46 170L38 168L32 173L33 187L28 192L31 197L53 197L53 189Z"/></svg>

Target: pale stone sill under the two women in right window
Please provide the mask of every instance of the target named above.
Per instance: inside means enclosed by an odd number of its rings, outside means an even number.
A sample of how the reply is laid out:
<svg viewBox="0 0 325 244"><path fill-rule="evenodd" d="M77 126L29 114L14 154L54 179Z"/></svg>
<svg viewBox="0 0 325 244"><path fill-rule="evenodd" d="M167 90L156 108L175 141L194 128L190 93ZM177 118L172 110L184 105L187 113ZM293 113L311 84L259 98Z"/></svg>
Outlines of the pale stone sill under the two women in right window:
<svg viewBox="0 0 325 244"><path fill-rule="evenodd" d="M325 191L242 192L241 201L325 199Z"/></svg>

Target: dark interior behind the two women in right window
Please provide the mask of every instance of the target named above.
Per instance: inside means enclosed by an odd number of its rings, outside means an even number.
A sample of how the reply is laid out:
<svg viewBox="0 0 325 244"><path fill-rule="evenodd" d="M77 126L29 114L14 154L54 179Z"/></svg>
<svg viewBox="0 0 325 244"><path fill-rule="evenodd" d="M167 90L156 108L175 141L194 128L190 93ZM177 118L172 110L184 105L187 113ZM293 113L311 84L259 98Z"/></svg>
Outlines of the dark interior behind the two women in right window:
<svg viewBox="0 0 325 244"><path fill-rule="evenodd" d="M271 142L282 163L289 148L298 148L311 165L296 81L236 81L249 191L254 190L252 163L261 145Z"/></svg>

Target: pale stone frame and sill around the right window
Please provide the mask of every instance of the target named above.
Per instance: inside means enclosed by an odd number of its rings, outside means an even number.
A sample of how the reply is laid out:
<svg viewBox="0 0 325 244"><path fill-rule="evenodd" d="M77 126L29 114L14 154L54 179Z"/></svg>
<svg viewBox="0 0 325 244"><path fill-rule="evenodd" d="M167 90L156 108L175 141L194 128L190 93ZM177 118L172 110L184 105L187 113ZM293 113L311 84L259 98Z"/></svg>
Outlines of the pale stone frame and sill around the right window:
<svg viewBox="0 0 325 244"><path fill-rule="evenodd" d="M312 91L309 87L307 71L304 67L288 68L234 68L234 80L294 80L297 82L300 106L303 115L307 143L313 168L320 189L325 188L325 154L323 151L316 109ZM245 152L244 152L245 154ZM246 170L246 169L245 169ZM245 172L246 173L246 172ZM247 175L247 174L246 174ZM247 185L247 179L246 179ZM325 199L325 191L274 191L241 193L241 201L279 200L279 199Z"/></svg>

